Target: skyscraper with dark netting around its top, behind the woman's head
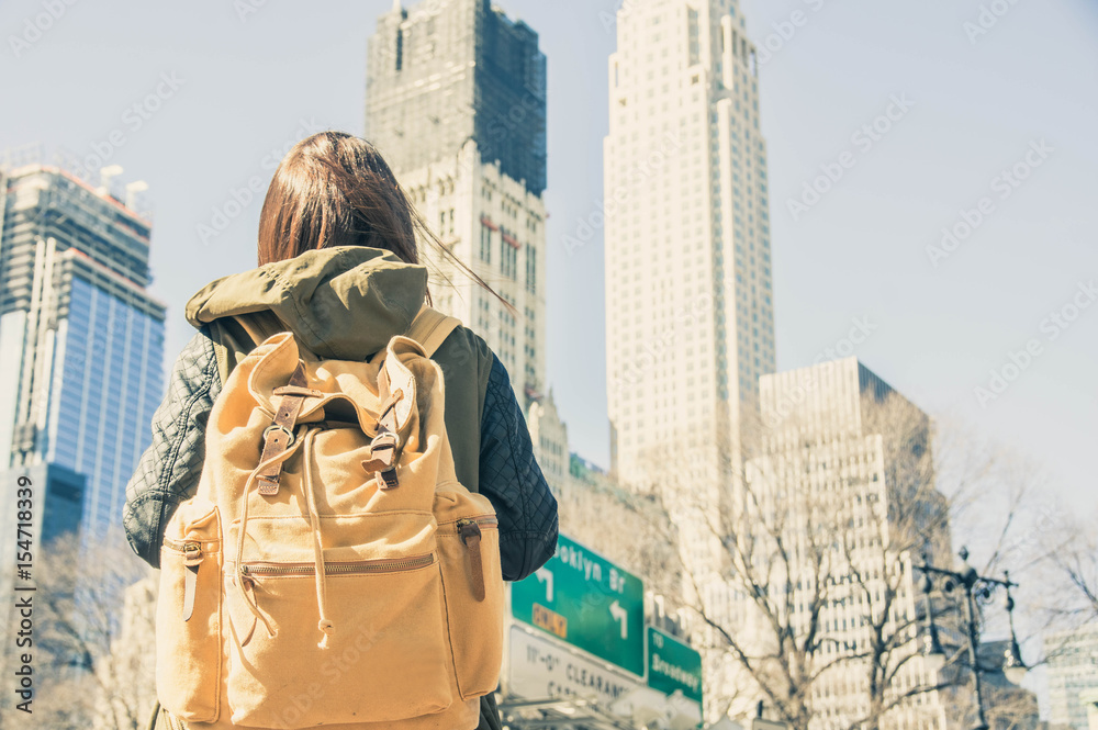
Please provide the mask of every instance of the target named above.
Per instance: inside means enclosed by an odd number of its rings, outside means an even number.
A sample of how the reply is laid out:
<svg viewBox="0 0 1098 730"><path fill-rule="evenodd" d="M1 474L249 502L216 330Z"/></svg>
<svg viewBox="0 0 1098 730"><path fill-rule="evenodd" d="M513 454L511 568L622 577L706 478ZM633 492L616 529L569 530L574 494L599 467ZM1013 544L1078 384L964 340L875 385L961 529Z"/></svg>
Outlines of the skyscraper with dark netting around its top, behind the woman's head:
<svg viewBox="0 0 1098 730"><path fill-rule="evenodd" d="M435 305L478 332L519 403L545 390L546 58L489 0L396 0L369 42L367 138L450 252ZM452 285L450 285L452 284Z"/></svg>

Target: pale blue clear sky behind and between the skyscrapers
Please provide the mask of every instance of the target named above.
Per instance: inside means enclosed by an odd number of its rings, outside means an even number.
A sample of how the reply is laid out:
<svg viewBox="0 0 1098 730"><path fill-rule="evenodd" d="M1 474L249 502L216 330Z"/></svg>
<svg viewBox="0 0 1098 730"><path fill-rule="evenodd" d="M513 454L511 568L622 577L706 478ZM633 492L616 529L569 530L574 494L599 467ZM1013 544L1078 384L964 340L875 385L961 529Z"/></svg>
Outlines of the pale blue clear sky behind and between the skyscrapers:
<svg viewBox="0 0 1098 730"><path fill-rule="evenodd" d="M744 2L749 33L760 46L773 34L777 48L760 91L778 368L810 363L867 318L876 329L854 353L871 369L931 414L1042 462L1063 495L1091 509L1098 303L1065 330L1042 322L1080 282L1098 280L1098 5ZM982 2L1009 12L973 43L964 23L978 21ZM170 307L173 355L190 336L188 296L254 265L259 204L243 205L206 246L199 226L213 223L215 207L234 212L232 191L249 178L265 187L272 160L313 125L361 133L366 38L391 3L309 3L304 14L305 3L269 0L242 20L229 2L57 0L64 13L13 49L11 37L48 4L0 4L0 148L42 142L87 155L112 136L124 141L110 161L124 180L150 187L154 291ZM618 3L501 4L540 33L548 57L549 377L572 448L606 463L601 234L571 256L562 238L602 195ZM795 11L800 25L782 40L773 24ZM158 87L159 109L143 119L131 108ZM852 135L894 94L914 105L866 150ZM1052 151L1002 199L993 179L1040 141ZM787 201L844 151L853 167L795 221ZM927 247L983 196L986 220L932 266ZM1040 353L982 407L974 389L1031 339Z"/></svg>

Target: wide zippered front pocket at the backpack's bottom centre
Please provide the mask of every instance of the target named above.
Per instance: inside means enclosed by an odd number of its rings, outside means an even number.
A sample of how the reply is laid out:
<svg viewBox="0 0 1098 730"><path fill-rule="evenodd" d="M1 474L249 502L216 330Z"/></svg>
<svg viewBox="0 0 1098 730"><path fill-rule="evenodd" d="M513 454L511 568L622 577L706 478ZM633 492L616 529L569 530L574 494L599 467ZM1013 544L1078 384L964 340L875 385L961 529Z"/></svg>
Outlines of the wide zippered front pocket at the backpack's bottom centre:
<svg viewBox="0 0 1098 730"><path fill-rule="evenodd" d="M313 562L231 568L233 723L293 729L392 722L450 706L434 552L326 562L323 596Z"/></svg>

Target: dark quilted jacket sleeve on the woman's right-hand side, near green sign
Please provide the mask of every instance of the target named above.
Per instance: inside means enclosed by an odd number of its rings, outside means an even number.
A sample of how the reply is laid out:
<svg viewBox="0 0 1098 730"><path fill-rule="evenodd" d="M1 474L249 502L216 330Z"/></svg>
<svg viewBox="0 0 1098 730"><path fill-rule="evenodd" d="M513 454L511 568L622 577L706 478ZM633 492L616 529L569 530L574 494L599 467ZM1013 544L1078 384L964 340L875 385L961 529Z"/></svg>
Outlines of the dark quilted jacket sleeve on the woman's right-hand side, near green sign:
<svg viewBox="0 0 1098 730"><path fill-rule="evenodd" d="M520 581L557 550L557 499L534 459L507 370L494 357L481 416L480 492L500 517L503 577Z"/></svg>

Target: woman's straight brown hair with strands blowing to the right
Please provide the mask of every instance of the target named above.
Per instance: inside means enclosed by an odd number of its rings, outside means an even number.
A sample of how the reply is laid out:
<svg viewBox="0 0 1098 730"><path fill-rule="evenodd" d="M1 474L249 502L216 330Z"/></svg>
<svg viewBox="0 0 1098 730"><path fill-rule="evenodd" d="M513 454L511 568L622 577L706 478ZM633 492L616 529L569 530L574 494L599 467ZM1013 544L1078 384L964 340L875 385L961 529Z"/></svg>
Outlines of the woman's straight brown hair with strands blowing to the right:
<svg viewBox="0 0 1098 730"><path fill-rule="evenodd" d="M321 132L294 145L274 171L259 214L259 265L333 246L382 248L419 263L417 236L511 308L442 246L373 145Z"/></svg>

